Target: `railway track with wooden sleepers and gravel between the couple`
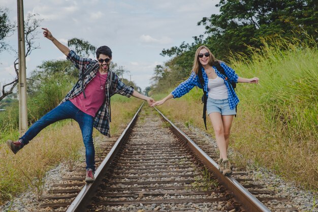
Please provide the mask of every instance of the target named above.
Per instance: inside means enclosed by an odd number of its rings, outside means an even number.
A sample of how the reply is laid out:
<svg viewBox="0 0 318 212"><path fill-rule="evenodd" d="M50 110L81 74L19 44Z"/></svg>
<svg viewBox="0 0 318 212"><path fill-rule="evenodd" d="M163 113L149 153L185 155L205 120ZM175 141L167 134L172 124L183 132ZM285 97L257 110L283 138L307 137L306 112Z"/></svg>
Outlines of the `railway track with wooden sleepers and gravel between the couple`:
<svg viewBox="0 0 318 212"><path fill-rule="evenodd" d="M297 211L289 204L273 207L272 201L290 200L255 184L243 171L220 174L212 160L218 157L215 148L183 125L179 131L149 107L140 108L134 118L118 140L100 144L93 184L84 184L84 168L79 167L54 185L39 207L68 212Z"/></svg>

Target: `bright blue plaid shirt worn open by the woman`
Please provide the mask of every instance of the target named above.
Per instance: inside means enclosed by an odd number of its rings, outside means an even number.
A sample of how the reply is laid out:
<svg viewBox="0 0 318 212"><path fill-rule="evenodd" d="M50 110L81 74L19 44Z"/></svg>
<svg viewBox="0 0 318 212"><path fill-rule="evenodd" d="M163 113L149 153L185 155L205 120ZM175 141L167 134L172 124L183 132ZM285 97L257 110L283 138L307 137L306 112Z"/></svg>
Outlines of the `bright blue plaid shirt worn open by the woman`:
<svg viewBox="0 0 318 212"><path fill-rule="evenodd" d="M223 69L224 69L225 73L227 74L229 80L237 82L238 76L235 73L235 71L232 68L230 68L229 66L227 66L225 63L221 63L221 66L223 67ZM231 85L229 85L228 81L225 80L225 76L222 75L216 69L215 66L213 66L213 68L215 69L215 73L217 74L217 76L224 80L225 85L228 88L228 99L229 99L230 108L234 109L235 106L239 103L239 99L238 99L233 87ZM206 95L208 95L208 76L205 73L203 68L202 68L202 75L203 75L203 78L204 78L204 90L206 92ZM202 88L200 80L199 80L199 76L196 75L195 72L192 72L190 77L187 80L185 80L184 82L182 82L181 84L179 84L171 92L171 94L173 95L173 98L182 97L183 95L188 93L190 91L190 89L192 89L194 86L198 86L198 87Z"/></svg>

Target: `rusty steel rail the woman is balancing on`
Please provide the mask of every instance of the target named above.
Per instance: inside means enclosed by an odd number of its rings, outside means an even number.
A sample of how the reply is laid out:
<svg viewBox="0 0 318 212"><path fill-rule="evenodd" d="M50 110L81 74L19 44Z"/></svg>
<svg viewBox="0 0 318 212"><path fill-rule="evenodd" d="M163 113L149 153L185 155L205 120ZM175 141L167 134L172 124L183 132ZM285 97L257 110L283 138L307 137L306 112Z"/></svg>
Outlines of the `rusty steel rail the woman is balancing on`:
<svg viewBox="0 0 318 212"><path fill-rule="evenodd" d="M197 155L202 163L212 171L212 174L221 182L224 187L234 194L234 199L242 203L242 208L249 212L262 211L270 212L270 210L255 196L249 193L236 179L232 176L224 176L218 170L218 164L213 161L192 139L185 135L177 126L175 126L161 111L155 108L158 113L171 125L171 129L188 145L190 149Z"/></svg>

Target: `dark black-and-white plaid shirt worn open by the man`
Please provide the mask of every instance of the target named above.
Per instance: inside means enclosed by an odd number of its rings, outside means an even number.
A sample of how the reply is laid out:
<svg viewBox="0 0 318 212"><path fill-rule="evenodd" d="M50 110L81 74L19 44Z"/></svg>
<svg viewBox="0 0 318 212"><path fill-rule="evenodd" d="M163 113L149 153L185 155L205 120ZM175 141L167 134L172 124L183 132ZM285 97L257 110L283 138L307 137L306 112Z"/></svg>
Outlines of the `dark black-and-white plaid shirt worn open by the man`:
<svg viewBox="0 0 318 212"><path fill-rule="evenodd" d="M67 56L67 59L70 60L77 69L79 69L79 76L81 75L82 71L85 70L86 66L92 62L92 59L89 58L83 58L78 56L73 50L70 51L69 55ZM84 78L84 89L85 86L94 78L97 76L99 66L97 68L91 70L90 73L88 73ZM106 135L110 137L109 134L109 123L110 123L110 97L114 94L120 94L126 97L131 97L134 93L134 88L129 87L125 85L122 81L120 81L119 77L115 75L115 79L112 83L112 87L109 88L110 85L110 74L107 76L106 84L105 84L105 95L106 100L96 113L94 117L94 128L98 129L103 135ZM79 95L82 92L82 81L78 80L78 82L73 86L73 88L70 90L70 92L66 95L66 97L61 101L61 103L73 99L77 95ZM60 103L60 104L61 104Z"/></svg>

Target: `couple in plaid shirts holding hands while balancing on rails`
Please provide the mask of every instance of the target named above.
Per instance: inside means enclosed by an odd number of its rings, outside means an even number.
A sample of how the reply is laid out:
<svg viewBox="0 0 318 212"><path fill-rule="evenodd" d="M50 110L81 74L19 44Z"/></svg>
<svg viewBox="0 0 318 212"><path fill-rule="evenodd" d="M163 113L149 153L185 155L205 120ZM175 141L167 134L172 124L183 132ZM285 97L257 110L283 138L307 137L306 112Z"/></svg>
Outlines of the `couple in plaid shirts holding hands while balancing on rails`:
<svg viewBox="0 0 318 212"><path fill-rule="evenodd" d="M79 73L83 73L93 62L90 58L78 56L73 50L56 40L47 28L43 35L67 56ZM224 62L215 59L206 46L200 46L195 54L193 69L190 77L179 84L166 98L155 102L152 98L138 93L134 88L125 85L116 74L109 72L112 51L107 46L96 50L98 66L90 70L83 79L73 86L61 103L35 122L18 141L8 140L7 144L16 154L24 145L28 144L42 129L58 120L73 118L78 122L82 132L86 157L87 183L94 181L95 151L93 145L93 127L103 135L110 136L110 97L120 94L126 97L136 97L146 100L150 106L162 105L171 98L178 98L188 93L194 86L204 90L206 95L206 110L211 119L215 132L215 139L219 148L219 170L224 174L231 174L231 164L228 160L230 130L233 116L236 114L236 105L239 99L231 82L258 83L257 77L246 79L239 77L233 69ZM218 63L218 64L216 64ZM217 67L224 69L221 73ZM114 75L113 77L111 75ZM201 77L199 77L201 76ZM200 81L201 79L201 81Z"/></svg>

